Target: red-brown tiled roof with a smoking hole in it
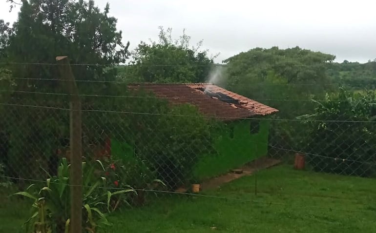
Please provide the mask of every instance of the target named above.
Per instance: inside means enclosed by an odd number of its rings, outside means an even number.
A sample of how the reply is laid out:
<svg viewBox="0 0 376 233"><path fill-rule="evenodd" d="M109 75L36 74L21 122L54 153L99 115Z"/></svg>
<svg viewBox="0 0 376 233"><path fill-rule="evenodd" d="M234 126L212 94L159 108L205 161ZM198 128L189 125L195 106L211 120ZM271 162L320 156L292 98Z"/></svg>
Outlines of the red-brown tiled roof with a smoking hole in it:
<svg viewBox="0 0 376 233"><path fill-rule="evenodd" d="M198 107L207 116L222 120L236 120L254 116L267 116L277 109L241 96L211 83L134 84L131 89L143 89L172 103L188 103Z"/></svg>

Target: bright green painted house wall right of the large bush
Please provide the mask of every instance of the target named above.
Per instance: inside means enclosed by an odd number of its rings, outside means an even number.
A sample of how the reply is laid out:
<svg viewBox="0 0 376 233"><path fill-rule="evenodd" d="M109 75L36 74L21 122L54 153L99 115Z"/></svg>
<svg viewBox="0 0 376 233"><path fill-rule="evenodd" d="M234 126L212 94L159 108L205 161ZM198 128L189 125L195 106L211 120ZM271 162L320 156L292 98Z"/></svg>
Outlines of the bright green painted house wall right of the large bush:
<svg viewBox="0 0 376 233"><path fill-rule="evenodd" d="M217 127L213 133L218 135L214 142L218 154L203 155L194 170L195 176L205 179L221 175L267 155L269 121L259 121L257 134L250 133L250 126L251 120L242 120Z"/></svg>

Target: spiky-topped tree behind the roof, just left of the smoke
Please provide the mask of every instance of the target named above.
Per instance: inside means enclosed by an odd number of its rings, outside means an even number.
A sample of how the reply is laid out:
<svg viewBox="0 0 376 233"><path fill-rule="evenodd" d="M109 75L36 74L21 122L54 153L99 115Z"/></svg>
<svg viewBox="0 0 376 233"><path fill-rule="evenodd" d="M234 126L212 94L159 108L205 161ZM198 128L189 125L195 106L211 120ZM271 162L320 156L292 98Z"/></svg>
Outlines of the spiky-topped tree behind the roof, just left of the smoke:
<svg viewBox="0 0 376 233"><path fill-rule="evenodd" d="M185 34L173 40L172 29L159 27L159 41L141 42L133 51L131 66L125 70L129 81L141 82L203 82L213 64L208 51L200 51L202 41L190 47Z"/></svg>

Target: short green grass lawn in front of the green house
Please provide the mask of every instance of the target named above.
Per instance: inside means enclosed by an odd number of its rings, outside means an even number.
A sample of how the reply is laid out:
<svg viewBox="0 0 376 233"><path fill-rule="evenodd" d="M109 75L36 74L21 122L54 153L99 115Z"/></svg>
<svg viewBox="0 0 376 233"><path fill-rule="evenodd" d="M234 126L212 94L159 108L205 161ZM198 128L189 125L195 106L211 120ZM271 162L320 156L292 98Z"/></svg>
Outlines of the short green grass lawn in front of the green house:
<svg viewBox="0 0 376 233"><path fill-rule="evenodd" d="M210 197L168 194L145 207L114 213L108 232L374 233L375 183L281 165L257 174L257 195L254 175L202 193ZM17 232L24 212L0 208L0 232Z"/></svg>

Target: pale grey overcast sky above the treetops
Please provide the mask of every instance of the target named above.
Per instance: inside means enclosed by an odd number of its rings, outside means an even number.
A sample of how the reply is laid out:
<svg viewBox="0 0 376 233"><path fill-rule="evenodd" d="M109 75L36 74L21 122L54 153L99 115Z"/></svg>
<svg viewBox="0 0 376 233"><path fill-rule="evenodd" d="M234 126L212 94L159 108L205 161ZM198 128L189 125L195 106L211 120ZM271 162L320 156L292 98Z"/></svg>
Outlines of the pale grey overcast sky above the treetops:
<svg viewBox="0 0 376 233"><path fill-rule="evenodd" d="M133 49L156 39L158 26L183 28L194 44L204 40L210 54L221 62L254 47L300 46L366 62L376 58L376 2L373 0L95 0L118 18L118 29ZM16 8L0 0L0 19L13 22Z"/></svg>

